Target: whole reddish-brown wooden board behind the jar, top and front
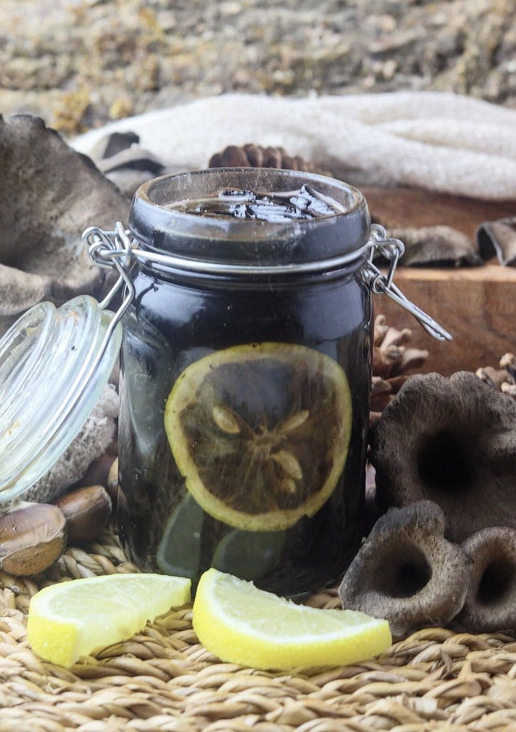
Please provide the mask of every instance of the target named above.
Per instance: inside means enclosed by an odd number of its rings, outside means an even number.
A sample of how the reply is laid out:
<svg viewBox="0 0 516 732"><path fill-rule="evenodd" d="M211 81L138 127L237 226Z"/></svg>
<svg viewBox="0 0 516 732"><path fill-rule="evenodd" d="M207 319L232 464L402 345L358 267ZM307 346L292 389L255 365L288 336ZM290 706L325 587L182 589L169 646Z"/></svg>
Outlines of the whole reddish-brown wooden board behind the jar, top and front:
<svg viewBox="0 0 516 732"><path fill-rule="evenodd" d="M479 201L419 188L363 188L371 217L387 228L448 225L471 239L478 226L516 213L516 201ZM516 269L492 261L461 269L398 267L395 283L409 299L450 333L439 343L414 318L385 296L374 298L376 313L397 327L411 328L414 346L428 348L425 370L449 375L461 369L496 366L516 351Z"/></svg>

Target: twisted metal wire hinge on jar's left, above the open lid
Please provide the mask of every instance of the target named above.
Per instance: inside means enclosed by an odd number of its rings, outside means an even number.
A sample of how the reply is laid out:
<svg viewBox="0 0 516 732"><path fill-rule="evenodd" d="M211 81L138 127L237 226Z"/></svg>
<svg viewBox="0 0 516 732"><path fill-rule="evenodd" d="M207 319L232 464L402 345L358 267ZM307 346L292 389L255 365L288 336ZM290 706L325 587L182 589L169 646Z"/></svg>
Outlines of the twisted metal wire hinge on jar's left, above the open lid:
<svg viewBox="0 0 516 732"><path fill-rule="evenodd" d="M124 299L110 323L110 331L112 332L134 299L134 284L130 277L132 265L134 264L131 240L124 226L120 221L117 221L115 231L104 231L98 226L87 228L83 232L83 244L88 249L88 255L94 264L105 269L114 267L118 272L118 280L102 302L99 303L101 310L109 307L115 294L122 285L125 285Z"/></svg>

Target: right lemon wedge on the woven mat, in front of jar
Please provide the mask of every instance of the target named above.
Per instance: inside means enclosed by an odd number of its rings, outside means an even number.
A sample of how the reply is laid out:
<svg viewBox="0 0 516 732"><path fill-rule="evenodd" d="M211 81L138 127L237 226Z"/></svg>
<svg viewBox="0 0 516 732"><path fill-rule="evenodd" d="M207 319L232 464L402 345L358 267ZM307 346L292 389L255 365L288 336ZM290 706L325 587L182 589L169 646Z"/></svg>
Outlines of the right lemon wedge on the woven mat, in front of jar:
<svg viewBox="0 0 516 732"><path fill-rule="evenodd" d="M392 643L386 620L295 605L213 568L200 579L193 624L222 661L284 671L362 661Z"/></svg>

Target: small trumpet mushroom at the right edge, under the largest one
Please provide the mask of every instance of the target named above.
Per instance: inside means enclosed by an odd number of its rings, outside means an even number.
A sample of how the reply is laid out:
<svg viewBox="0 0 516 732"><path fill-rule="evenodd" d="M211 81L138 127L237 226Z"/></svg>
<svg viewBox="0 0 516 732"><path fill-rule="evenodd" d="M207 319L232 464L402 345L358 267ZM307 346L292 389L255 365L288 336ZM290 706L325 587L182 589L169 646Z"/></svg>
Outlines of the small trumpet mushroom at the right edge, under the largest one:
<svg viewBox="0 0 516 732"><path fill-rule="evenodd" d="M466 539L473 562L458 622L471 632L516 630L516 531L491 526Z"/></svg>

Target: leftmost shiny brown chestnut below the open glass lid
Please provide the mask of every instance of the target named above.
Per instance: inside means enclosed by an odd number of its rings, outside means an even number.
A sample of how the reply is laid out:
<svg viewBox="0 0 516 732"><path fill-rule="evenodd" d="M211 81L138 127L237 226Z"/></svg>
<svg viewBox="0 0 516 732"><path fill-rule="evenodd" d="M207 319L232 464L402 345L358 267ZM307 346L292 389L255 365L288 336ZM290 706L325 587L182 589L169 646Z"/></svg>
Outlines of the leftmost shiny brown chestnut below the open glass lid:
<svg viewBox="0 0 516 732"><path fill-rule="evenodd" d="M0 567L28 577L56 561L67 545L67 524L50 504L28 504L0 518Z"/></svg>

